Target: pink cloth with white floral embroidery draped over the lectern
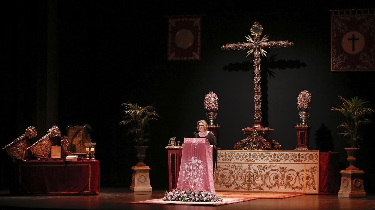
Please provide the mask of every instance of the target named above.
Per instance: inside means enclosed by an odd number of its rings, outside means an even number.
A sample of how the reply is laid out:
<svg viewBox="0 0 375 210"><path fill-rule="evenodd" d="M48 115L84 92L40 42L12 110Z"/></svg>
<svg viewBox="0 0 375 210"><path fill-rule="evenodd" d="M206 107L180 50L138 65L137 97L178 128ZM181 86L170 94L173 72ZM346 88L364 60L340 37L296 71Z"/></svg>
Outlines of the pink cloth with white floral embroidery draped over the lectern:
<svg viewBox="0 0 375 210"><path fill-rule="evenodd" d="M215 192L212 148L207 138L184 138L177 189Z"/></svg>

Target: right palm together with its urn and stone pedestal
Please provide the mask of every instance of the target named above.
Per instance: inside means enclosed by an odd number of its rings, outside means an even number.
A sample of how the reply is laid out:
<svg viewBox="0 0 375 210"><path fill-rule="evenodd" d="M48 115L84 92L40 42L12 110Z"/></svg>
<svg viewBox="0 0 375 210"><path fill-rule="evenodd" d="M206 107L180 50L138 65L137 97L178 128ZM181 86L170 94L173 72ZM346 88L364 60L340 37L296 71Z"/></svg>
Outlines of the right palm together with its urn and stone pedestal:
<svg viewBox="0 0 375 210"><path fill-rule="evenodd" d="M338 192L339 197L352 198L352 197L365 197L366 192L363 187L362 175L365 174L364 171L360 170L354 163L357 158L356 153L359 151L359 141L362 140L361 131L359 128L362 125L367 125L371 121L367 118L371 115L374 110L370 107L371 105L368 101L363 101L354 97L351 100L346 100L339 96L342 101L340 107L332 107L331 110L339 111L345 116L345 121L339 125L339 128L344 128L342 134L347 142L351 145L350 148L344 148L348 154L348 162L350 166L345 170L341 170L341 186Z"/></svg>

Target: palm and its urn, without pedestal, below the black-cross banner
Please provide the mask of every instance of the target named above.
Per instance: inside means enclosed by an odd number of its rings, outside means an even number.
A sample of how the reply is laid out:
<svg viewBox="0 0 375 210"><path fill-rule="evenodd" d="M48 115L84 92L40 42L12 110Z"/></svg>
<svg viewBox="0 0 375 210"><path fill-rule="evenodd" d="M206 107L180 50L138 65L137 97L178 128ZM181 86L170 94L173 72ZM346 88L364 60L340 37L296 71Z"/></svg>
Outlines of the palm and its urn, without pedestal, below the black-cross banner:
<svg viewBox="0 0 375 210"><path fill-rule="evenodd" d="M371 120L367 117L374 110L370 108L371 105L368 101L359 99L358 96L351 98L351 100L339 96L339 99L342 101L341 106L338 108L332 107L331 110L339 111L345 116L345 121L338 126L338 128L344 128L344 132L339 134L342 134L348 144L351 145L350 148L345 148L345 150L348 153L349 168L355 168L353 166L356 161L354 155L359 150L359 142L363 140L359 128L371 123Z"/></svg>

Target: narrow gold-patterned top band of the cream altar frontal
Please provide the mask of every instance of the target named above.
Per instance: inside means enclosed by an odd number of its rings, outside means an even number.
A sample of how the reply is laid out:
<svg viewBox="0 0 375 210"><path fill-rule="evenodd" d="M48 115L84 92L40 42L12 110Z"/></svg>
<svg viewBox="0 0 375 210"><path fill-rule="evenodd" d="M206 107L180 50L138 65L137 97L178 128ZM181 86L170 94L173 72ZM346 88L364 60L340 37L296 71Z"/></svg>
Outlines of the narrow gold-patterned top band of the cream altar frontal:
<svg viewBox="0 0 375 210"><path fill-rule="evenodd" d="M217 162L261 162L261 163L317 163L318 153L309 152L221 152L217 153Z"/></svg>

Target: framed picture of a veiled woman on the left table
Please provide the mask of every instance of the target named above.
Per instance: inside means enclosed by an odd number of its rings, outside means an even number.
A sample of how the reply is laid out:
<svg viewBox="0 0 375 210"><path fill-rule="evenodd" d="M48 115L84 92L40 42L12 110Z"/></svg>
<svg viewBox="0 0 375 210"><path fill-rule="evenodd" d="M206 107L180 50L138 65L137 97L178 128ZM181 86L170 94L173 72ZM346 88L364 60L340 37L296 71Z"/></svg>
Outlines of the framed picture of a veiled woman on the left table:
<svg viewBox="0 0 375 210"><path fill-rule="evenodd" d="M85 143L91 143L90 134L84 126L68 127L68 151L73 154L86 154Z"/></svg>

